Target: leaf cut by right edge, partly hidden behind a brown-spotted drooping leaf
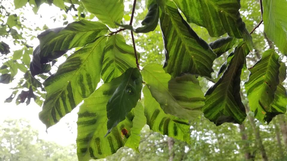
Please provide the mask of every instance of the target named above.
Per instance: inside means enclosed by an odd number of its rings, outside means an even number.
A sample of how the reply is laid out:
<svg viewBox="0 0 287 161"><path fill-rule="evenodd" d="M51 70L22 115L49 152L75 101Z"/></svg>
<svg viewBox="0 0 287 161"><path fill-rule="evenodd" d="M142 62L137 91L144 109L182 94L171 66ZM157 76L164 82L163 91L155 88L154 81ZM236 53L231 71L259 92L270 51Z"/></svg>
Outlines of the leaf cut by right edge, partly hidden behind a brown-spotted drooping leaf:
<svg viewBox="0 0 287 161"><path fill-rule="evenodd" d="M274 100L271 104L271 111L274 112L274 116L286 112L287 106L287 92L286 88L282 85L282 82L286 79L286 65L280 61L279 68L279 84L274 94Z"/></svg>

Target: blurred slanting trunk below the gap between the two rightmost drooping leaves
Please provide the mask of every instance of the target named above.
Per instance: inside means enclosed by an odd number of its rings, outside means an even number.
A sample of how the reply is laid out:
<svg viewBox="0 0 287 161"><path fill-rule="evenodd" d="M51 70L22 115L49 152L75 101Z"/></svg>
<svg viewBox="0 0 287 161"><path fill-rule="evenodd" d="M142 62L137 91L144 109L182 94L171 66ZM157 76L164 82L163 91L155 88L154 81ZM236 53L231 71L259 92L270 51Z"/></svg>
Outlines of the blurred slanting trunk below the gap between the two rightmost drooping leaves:
<svg viewBox="0 0 287 161"><path fill-rule="evenodd" d="M246 112L248 113L249 112L249 109L246 108L245 106L245 109L246 109ZM257 141L257 146L258 146L258 149L260 150L261 152L261 156L262 156L262 160L264 161L268 161L268 157L266 155L266 151L265 151L265 148L263 146L263 143L262 143L262 139L261 139L261 136L260 136L260 130L259 128L256 126L255 124L255 121L254 121L254 117L250 116L249 114L247 115L248 116L248 119L249 119L249 122L252 126L252 129L254 131L254 134L255 134L255 139Z"/></svg>

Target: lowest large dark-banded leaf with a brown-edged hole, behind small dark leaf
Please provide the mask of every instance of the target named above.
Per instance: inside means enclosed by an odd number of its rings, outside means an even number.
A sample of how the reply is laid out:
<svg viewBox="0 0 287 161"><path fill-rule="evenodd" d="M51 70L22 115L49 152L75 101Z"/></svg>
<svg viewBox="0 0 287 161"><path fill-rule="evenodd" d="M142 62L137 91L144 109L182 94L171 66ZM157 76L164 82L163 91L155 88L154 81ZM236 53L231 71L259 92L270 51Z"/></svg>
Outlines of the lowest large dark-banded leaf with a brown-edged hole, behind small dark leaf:
<svg viewBox="0 0 287 161"><path fill-rule="evenodd" d="M142 106L140 104L105 137L108 131L106 126L108 122L106 104L122 80L123 75L109 83L104 83L90 97L86 98L80 106L77 121L77 155L79 160L87 161L105 158L114 154L120 147L123 147L129 139L134 144L138 143L138 131L142 128L138 127L138 125L142 126L139 121L143 121L138 120L140 119L138 116L142 114ZM135 114L135 112L141 113ZM133 125L135 125L135 128L132 129ZM131 137L131 135L135 136ZM136 135L138 137L136 140L133 140ZM138 145L131 145L131 148L135 146Z"/></svg>

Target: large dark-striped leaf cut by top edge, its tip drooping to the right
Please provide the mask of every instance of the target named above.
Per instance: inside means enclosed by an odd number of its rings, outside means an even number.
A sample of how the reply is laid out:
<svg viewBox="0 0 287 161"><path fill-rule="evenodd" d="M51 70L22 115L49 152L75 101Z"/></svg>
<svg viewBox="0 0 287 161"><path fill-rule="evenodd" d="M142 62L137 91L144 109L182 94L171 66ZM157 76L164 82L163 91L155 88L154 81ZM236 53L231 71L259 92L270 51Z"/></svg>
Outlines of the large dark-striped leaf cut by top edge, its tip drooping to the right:
<svg viewBox="0 0 287 161"><path fill-rule="evenodd" d="M243 38L252 49L252 37L240 18L240 0L173 0L184 13L187 22L205 27L212 37L225 33Z"/></svg>

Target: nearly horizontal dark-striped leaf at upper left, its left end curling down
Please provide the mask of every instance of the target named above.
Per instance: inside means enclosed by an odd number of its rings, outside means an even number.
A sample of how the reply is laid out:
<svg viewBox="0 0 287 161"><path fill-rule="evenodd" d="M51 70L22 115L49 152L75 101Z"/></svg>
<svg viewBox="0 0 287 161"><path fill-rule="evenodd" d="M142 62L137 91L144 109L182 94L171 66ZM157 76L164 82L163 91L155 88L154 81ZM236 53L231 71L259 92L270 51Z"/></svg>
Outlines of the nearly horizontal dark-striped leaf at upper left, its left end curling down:
<svg viewBox="0 0 287 161"><path fill-rule="evenodd" d="M83 47L105 35L108 27L100 22L76 21L66 27L48 29L37 38L40 41L40 61L48 63L62 56L62 52L74 47ZM59 54L60 53L60 54Z"/></svg>

